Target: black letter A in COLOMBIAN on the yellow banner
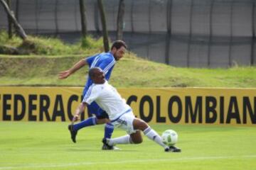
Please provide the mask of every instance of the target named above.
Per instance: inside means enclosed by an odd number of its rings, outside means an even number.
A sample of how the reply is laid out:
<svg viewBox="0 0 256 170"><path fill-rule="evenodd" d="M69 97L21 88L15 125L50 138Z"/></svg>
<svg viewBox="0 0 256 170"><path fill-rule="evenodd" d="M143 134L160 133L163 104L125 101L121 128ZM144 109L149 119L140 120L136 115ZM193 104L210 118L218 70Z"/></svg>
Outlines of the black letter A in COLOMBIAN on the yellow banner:
<svg viewBox="0 0 256 170"><path fill-rule="evenodd" d="M235 110L234 112L233 112L233 108ZM238 123L238 124L241 123L239 110L238 110L238 100L235 96L230 97L230 103L228 106L228 115L227 115L226 123L230 123L230 120L232 118L235 118L236 123Z"/></svg>

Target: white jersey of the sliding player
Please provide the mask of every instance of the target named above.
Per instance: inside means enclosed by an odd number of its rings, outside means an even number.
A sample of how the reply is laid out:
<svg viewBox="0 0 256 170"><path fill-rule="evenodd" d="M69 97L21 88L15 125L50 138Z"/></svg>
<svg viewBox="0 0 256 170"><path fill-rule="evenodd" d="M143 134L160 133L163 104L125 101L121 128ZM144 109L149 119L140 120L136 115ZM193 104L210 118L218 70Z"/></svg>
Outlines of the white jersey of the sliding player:
<svg viewBox="0 0 256 170"><path fill-rule="evenodd" d="M82 103L90 105L92 101L95 101L100 108L107 112L110 120L119 118L120 115L131 110L131 107L127 105L117 89L114 89L107 81L104 84L92 84L90 86Z"/></svg>

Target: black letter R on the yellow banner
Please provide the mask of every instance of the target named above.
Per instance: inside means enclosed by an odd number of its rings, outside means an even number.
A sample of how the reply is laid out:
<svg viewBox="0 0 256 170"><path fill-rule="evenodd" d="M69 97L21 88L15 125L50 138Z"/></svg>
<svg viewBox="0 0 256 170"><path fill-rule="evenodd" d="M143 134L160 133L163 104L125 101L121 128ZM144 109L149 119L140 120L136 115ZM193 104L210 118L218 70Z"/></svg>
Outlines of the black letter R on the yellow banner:
<svg viewBox="0 0 256 170"><path fill-rule="evenodd" d="M40 104L39 104L39 120L43 121L43 115L46 115L46 121L50 121L49 107L50 107L50 98L47 95L40 95Z"/></svg>

